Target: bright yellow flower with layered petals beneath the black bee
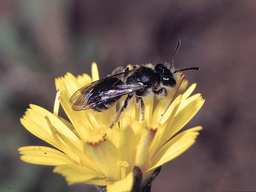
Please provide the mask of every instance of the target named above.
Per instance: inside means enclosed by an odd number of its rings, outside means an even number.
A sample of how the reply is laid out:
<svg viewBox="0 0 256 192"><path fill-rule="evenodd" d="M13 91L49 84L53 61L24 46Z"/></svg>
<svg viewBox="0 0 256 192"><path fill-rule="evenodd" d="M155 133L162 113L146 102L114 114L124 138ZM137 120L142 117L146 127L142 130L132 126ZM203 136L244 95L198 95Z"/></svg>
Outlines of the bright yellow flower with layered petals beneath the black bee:
<svg viewBox="0 0 256 192"><path fill-rule="evenodd" d="M18 149L23 161L56 166L54 173L66 177L69 184L78 182L97 185L107 191L137 191L150 187L164 163L186 151L202 129L201 126L178 133L204 103L193 84L185 92L187 81L177 74L177 86L168 90L167 97L144 98L144 121L140 107L131 102L119 123L109 125L116 115L113 107L104 112L74 111L69 99L86 84L98 80L96 63L92 78L67 73L55 79L57 96L54 112L30 104L22 124L35 136L58 150L45 146L25 146ZM125 99L125 98L124 98ZM121 101L124 100L121 98ZM59 117L59 102L69 121ZM178 133L178 134L177 134Z"/></svg>

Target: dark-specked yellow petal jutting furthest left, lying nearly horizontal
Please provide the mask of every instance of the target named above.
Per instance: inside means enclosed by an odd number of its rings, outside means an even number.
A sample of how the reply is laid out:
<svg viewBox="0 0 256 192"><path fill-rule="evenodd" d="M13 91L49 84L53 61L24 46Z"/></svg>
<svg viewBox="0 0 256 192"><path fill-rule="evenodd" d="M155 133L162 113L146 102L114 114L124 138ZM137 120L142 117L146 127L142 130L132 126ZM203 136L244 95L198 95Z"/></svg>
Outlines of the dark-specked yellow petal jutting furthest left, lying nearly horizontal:
<svg viewBox="0 0 256 192"><path fill-rule="evenodd" d="M18 148L18 151L22 154L20 159L28 163L54 166L75 164L66 154L46 146L24 146Z"/></svg>

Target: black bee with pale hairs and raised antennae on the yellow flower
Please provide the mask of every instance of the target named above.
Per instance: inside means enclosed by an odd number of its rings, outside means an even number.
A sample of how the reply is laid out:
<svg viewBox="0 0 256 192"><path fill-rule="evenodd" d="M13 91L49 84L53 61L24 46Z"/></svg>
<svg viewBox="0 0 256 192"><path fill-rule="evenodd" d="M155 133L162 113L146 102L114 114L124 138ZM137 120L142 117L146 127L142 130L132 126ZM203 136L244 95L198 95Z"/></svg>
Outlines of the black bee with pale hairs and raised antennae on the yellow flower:
<svg viewBox="0 0 256 192"><path fill-rule="evenodd" d="M159 63L155 68L144 65L129 67L119 67L111 75L94 81L87 86L77 90L70 98L74 111L92 109L96 112L103 112L114 106L118 100L127 95L122 106L118 110L112 128L127 108L129 101L135 95L135 102L141 106L142 121L144 120L145 104L143 97L157 95L158 98L167 96L167 89L176 86L176 78L179 71L200 70L200 68L184 68L175 70L173 67L174 57L180 47L178 40L173 58L164 65Z"/></svg>

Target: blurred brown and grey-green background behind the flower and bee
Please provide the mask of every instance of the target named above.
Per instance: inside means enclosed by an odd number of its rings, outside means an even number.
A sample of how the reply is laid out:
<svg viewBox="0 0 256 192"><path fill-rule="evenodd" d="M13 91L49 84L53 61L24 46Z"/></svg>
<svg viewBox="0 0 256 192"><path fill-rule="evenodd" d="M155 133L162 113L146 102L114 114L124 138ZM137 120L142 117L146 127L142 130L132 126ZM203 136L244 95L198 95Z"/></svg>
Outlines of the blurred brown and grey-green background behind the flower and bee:
<svg viewBox="0 0 256 192"><path fill-rule="evenodd" d="M255 20L256 1L2 0L0 191L96 191L19 160L20 146L48 146L19 118L29 103L53 111L55 77L168 62L178 39L176 68L201 68L184 74L206 99L186 128L203 131L152 191L256 190Z"/></svg>

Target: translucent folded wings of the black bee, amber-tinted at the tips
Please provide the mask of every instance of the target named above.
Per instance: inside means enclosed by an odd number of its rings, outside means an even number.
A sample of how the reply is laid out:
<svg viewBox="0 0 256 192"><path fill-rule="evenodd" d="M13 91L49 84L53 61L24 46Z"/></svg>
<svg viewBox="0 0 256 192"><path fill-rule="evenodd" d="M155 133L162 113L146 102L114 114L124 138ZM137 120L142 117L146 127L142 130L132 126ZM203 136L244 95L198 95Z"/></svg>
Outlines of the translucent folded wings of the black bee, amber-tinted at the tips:
<svg viewBox="0 0 256 192"><path fill-rule="evenodd" d="M73 104L72 109L75 111L92 109L97 105L137 91L141 86L125 85L121 80L133 71L134 69L102 78L77 90L70 98L70 102Z"/></svg>

